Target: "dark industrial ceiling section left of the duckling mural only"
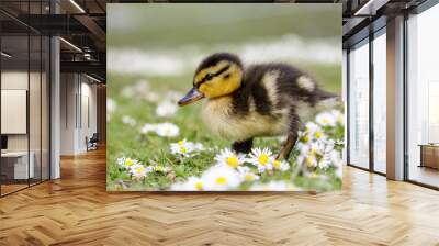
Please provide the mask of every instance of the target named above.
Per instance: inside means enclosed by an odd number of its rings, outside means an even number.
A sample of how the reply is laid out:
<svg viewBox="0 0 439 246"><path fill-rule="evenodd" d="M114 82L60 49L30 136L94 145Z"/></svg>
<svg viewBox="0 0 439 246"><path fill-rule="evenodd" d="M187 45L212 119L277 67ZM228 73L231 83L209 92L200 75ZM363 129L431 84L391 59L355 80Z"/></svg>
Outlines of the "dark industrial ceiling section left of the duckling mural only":
<svg viewBox="0 0 439 246"><path fill-rule="evenodd" d="M1 0L2 47L13 54L3 65L25 64L27 33L56 35L63 37L61 72L85 72L105 81L105 0ZM31 45L34 42L31 37ZM31 47L29 55L30 64L35 64L40 51Z"/></svg>

